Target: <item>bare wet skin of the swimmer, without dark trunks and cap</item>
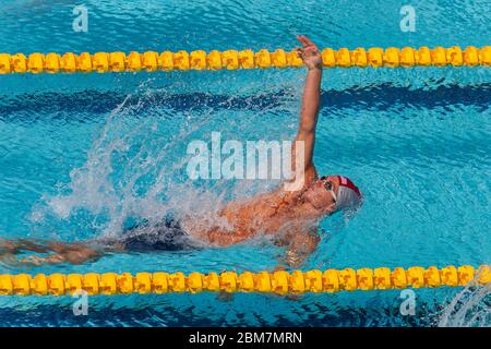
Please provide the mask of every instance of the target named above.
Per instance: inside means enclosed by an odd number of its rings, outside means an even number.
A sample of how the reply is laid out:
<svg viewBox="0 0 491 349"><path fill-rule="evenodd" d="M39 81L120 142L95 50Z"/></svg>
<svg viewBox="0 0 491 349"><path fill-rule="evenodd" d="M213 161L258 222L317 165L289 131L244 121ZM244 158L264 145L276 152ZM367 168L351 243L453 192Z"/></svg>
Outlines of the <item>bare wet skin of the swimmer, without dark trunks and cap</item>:
<svg viewBox="0 0 491 349"><path fill-rule="evenodd" d="M285 262L292 267L300 265L316 248L319 220L334 212L334 200L321 180L313 164L315 129L320 109L320 88L322 80L322 58L318 47L306 36L298 36L301 47L298 56L308 69L300 122L296 142L291 149L292 168L296 178L303 179L303 185L296 191L280 188L276 191L256 195L249 200L226 204L218 212L226 225L203 226L193 218L183 218L182 228L195 240L207 244L226 246L254 238L271 236L275 243L288 246ZM297 164L296 144L303 143L303 161ZM299 174L302 173L302 174ZM338 191L336 177L327 178ZM106 253L125 252L121 243L97 246L91 242L56 242L35 240L0 240L0 260L12 261L21 251L50 253L48 256L31 255L19 260L22 263L39 265L43 263L80 264L94 261Z"/></svg>

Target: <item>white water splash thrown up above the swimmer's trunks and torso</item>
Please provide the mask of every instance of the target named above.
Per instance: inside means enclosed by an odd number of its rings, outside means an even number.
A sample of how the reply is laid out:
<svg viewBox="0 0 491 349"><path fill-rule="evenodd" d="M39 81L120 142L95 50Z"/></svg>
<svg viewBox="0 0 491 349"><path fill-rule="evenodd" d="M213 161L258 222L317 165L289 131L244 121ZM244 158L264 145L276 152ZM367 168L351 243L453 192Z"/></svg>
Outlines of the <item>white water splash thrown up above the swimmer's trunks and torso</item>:
<svg viewBox="0 0 491 349"><path fill-rule="evenodd" d="M128 95L110 112L85 163L70 172L70 182L62 184L59 193L44 197L45 206L33 210L32 221L61 221L56 230L73 231L73 227L67 229L67 224L72 225L82 239L88 238L87 230L96 236L119 236L134 220L156 224L169 213L178 219L194 217L203 228L219 225L230 229L216 214L220 204L275 184L191 182L185 172L188 142L196 136L206 139L207 132L216 130L219 112L203 105L196 106L199 110L163 107L154 100L161 91L140 88L143 93Z"/></svg>

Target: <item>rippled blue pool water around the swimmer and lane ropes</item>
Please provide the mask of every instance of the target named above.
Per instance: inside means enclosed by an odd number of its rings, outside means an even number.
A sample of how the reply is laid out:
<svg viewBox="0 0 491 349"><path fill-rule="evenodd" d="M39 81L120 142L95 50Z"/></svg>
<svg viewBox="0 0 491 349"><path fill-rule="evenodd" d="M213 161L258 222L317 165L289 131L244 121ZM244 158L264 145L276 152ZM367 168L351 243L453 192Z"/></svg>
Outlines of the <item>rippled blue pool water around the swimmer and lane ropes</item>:
<svg viewBox="0 0 491 349"><path fill-rule="evenodd" d="M320 47L484 46L490 1L85 0L88 32L72 29L73 1L0 7L1 52L275 49L295 34ZM289 140L304 71L217 71L0 76L0 234L65 241L118 236L130 217L199 214L272 188L265 181L190 181L191 140ZM322 222L311 268L491 262L491 73L487 68L333 69L322 83L314 161L366 195L349 224ZM284 251L263 241L193 252L110 255L72 266L0 264L0 274L272 269ZM2 297L0 326L490 325L490 294L416 290L275 296ZM459 299L465 311L452 308ZM479 315L481 314L481 315ZM483 314L483 315L482 315ZM479 321L472 316L479 315ZM470 320L469 320L470 318Z"/></svg>

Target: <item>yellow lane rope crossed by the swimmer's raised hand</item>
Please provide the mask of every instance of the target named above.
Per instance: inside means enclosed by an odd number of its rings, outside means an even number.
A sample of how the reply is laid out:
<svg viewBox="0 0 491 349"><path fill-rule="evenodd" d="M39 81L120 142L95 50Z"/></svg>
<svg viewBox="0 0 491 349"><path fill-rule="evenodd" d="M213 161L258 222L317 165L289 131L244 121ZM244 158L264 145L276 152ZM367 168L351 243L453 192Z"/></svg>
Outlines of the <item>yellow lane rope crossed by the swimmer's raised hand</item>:
<svg viewBox="0 0 491 349"><path fill-rule="evenodd" d="M398 67L475 67L491 65L491 46L477 48L468 46L444 47L411 47L382 49L357 48L349 50L340 48L322 50L322 61L325 68L398 68ZM63 55L50 52L47 55L34 52L0 53L0 74L10 73L75 73L75 72L155 72L155 71L187 71L187 70L238 70L238 69L268 69L268 68L299 68L303 62L295 50L277 49L270 52L266 49L256 52L247 50L212 50L205 52L82 52Z"/></svg>

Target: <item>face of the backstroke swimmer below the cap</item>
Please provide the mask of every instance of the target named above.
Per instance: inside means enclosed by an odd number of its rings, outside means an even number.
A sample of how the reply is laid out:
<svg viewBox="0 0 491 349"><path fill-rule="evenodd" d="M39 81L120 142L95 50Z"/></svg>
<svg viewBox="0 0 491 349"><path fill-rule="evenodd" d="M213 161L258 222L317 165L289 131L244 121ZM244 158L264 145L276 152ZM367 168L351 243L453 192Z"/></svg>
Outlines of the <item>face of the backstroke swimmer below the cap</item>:
<svg viewBox="0 0 491 349"><path fill-rule="evenodd" d="M335 177L322 177L313 182L303 197L320 213L331 214L336 206L337 181Z"/></svg>

